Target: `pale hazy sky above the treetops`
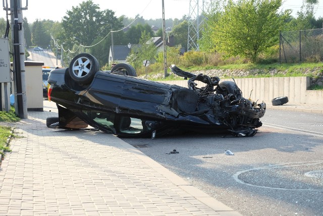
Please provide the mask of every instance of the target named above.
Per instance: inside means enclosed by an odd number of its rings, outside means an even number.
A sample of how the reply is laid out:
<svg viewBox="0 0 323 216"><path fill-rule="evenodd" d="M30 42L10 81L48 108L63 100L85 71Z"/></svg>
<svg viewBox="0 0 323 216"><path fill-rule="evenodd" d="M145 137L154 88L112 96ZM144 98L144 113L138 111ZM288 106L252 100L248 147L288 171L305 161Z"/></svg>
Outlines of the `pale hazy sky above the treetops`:
<svg viewBox="0 0 323 216"><path fill-rule="evenodd" d="M26 6L26 0L21 0L22 6ZM79 6L84 0L28 0L28 10L23 11L23 17L28 19L29 23L36 19L49 19L53 21L62 21L68 10L72 7ZM101 10L110 9L115 12L117 17L126 15L129 18L134 18L140 14L144 19L162 18L161 0L92 0ZM196 4L197 0L191 1L192 5ZM216 0L215 0L216 1ZM10 3L10 1L8 0ZM283 0L282 9L293 10L292 15L296 16L296 12L300 10L303 0ZM315 17L323 16L323 0L318 1L315 7ZM199 4L202 0L199 0ZM165 19L181 19L183 15L189 14L190 0L164 0ZM3 11L2 17L6 13Z"/></svg>

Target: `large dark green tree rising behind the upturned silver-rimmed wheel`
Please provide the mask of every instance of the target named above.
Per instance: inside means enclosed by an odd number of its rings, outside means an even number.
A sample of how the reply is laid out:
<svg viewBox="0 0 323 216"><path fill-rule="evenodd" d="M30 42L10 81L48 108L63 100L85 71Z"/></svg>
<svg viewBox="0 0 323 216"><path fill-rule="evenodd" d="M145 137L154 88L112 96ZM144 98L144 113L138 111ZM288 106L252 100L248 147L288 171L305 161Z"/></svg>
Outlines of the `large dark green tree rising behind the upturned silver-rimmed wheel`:
<svg viewBox="0 0 323 216"><path fill-rule="evenodd" d="M63 31L57 38L59 45L65 42L70 48L75 47L75 44L88 47L86 51L95 55L100 64L104 65L108 61L111 45L111 36L106 35L111 30L122 29L123 24L122 19L115 16L115 12L108 9L100 11L98 5L88 0L67 11L67 15L62 19L62 27ZM82 50L84 52L85 48Z"/></svg>

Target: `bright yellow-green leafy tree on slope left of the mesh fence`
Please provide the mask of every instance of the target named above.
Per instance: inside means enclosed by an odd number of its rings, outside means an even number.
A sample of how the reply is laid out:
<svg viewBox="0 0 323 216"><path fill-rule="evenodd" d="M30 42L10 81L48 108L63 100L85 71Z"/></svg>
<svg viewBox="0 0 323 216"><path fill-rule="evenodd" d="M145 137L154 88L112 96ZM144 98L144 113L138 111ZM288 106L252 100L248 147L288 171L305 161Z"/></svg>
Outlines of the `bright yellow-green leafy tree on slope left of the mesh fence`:
<svg viewBox="0 0 323 216"><path fill-rule="evenodd" d="M279 31L290 13L278 13L281 6L282 0L229 0L219 21L211 26L215 50L255 62L279 41Z"/></svg>

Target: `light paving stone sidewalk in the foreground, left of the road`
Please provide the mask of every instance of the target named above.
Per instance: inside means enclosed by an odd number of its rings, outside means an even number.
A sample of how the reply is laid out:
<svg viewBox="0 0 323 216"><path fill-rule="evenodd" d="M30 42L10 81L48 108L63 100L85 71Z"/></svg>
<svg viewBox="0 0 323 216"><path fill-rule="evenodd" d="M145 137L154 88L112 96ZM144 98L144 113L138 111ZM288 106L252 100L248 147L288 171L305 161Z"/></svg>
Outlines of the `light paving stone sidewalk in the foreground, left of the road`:
<svg viewBox="0 0 323 216"><path fill-rule="evenodd" d="M121 139L47 128L55 103L15 125L0 215L240 215Z"/></svg>

